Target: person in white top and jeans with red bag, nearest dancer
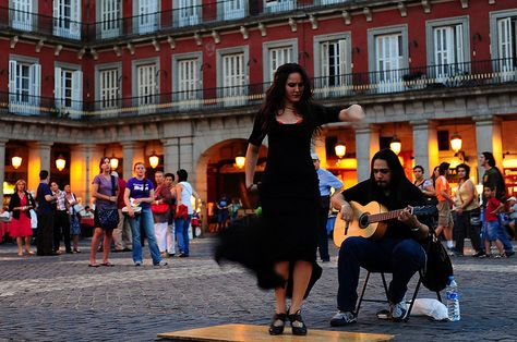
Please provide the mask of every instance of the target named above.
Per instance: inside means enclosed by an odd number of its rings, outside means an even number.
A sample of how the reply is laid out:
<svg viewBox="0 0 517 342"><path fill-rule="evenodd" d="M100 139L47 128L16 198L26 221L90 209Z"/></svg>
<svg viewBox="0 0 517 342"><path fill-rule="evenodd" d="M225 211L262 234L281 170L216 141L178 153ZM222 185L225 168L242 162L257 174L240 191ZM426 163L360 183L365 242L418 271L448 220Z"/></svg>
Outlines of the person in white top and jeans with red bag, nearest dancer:
<svg viewBox="0 0 517 342"><path fill-rule="evenodd" d="M200 206L200 195L194 191L192 185L187 181L189 173L180 169L176 172L178 184L176 184L177 211L175 220L176 240L178 241L178 257L187 258L190 256L189 248L189 227L194 211ZM194 196L195 204L192 208L191 197Z"/></svg>

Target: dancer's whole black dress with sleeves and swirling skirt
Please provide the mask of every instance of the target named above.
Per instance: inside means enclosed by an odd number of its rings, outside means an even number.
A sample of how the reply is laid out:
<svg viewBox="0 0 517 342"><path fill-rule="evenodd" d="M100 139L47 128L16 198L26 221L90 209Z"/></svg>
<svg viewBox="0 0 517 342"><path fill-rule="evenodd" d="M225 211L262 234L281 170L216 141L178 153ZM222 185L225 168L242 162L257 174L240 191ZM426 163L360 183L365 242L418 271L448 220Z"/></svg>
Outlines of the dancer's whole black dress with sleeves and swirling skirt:
<svg viewBox="0 0 517 342"><path fill-rule="evenodd" d="M223 232L216 247L218 261L228 259L251 269L263 289L284 285L274 272L278 261L313 262L310 286L321 276L315 262L321 204L311 139L317 126L338 121L340 109L313 105L310 110L312 115L297 124L270 122L267 163L260 186L262 217ZM261 146L265 137L262 131L262 120L256 118L249 143ZM290 285L288 282L288 295Z"/></svg>

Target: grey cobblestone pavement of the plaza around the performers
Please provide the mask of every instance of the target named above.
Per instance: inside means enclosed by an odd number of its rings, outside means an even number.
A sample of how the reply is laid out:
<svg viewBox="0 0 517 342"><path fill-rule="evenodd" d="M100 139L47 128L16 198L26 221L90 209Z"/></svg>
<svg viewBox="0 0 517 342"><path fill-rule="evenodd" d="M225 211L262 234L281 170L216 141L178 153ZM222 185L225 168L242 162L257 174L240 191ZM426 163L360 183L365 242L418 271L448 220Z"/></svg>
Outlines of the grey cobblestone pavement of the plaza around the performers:
<svg viewBox="0 0 517 342"><path fill-rule="evenodd" d="M88 268L88 243L82 242L82 254L53 257L17 257L13 244L0 245L0 340L153 341L159 332L212 325L267 325L273 315L273 292L258 290L236 266L219 268L211 257L211 237L196 239L190 258L169 258L161 268L152 266L148 255L136 268L130 253L111 254L115 267ZM517 258L453 261L461 295L458 322L380 321L375 312L383 305L365 303L357 325L330 328L335 257L323 264L303 317L310 329L389 333L398 341L517 341ZM369 292L381 295L382 282L372 277ZM433 293L422 289L419 297Z"/></svg>

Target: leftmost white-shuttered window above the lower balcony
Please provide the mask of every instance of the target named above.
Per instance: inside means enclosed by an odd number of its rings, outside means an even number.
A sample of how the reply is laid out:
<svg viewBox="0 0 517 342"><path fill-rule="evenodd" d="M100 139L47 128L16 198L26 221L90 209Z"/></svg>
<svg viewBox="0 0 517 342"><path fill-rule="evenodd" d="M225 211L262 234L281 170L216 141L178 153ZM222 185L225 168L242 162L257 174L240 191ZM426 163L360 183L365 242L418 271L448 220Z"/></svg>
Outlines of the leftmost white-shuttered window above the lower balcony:
<svg viewBox="0 0 517 342"><path fill-rule="evenodd" d="M41 65L36 61L9 61L9 109L13 113L39 111Z"/></svg>

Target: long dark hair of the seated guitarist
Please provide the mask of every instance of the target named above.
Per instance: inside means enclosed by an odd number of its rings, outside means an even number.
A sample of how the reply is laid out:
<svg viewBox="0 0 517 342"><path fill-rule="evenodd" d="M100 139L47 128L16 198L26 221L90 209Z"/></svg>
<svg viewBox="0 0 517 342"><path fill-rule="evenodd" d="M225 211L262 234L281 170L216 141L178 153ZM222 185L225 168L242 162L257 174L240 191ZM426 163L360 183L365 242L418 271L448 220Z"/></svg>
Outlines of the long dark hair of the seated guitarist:
<svg viewBox="0 0 517 342"><path fill-rule="evenodd" d="M414 187L414 185L406 176L397 155L395 155L395 152L389 148L384 148L377 151L372 158L372 163L370 166L370 180L374 190L378 193L382 193L383 190L376 184L375 176L373 174L373 163L377 159L385 160L392 172L388 185L389 193L395 196L397 203L406 205L408 198L405 198L405 195L409 195L407 191L411 187Z"/></svg>

